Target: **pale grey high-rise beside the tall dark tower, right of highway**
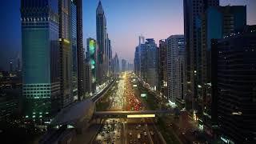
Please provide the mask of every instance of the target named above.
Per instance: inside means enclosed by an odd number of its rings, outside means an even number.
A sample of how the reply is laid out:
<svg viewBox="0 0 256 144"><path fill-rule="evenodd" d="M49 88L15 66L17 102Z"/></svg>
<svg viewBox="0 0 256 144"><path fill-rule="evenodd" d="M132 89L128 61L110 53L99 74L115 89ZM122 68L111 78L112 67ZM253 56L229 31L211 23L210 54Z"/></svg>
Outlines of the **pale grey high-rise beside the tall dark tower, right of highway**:
<svg viewBox="0 0 256 144"><path fill-rule="evenodd" d="M185 106L185 46L184 35L167 38L167 86L168 99L178 106Z"/></svg>

